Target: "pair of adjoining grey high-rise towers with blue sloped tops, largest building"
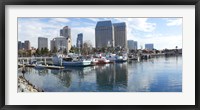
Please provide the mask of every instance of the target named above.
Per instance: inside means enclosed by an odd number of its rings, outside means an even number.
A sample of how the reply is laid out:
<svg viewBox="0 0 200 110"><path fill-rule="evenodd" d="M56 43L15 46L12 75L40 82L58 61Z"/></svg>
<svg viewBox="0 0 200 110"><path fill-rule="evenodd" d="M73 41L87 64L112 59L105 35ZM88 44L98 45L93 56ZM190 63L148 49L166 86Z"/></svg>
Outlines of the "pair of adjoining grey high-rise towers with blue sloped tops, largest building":
<svg viewBox="0 0 200 110"><path fill-rule="evenodd" d="M122 47L127 48L126 23L114 23L109 21L97 22L95 28L96 48Z"/></svg>

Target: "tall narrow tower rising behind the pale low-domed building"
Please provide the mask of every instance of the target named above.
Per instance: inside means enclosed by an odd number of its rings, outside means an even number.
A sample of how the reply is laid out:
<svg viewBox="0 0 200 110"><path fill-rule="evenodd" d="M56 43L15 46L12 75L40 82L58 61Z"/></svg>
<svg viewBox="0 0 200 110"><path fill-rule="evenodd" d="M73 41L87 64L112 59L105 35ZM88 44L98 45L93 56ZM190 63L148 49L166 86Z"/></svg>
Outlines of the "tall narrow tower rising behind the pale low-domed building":
<svg viewBox="0 0 200 110"><path fill-rule="evenodd" d="M63 27L63 29L60 30L60 36L63 36L67 39L66 41L66 47L67 47L67 52L71 49L72 46L72 41L71 41L71 29L69 26Z"/></svg>

